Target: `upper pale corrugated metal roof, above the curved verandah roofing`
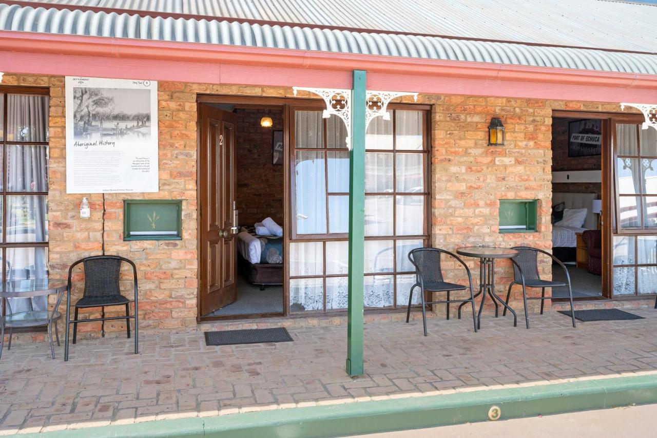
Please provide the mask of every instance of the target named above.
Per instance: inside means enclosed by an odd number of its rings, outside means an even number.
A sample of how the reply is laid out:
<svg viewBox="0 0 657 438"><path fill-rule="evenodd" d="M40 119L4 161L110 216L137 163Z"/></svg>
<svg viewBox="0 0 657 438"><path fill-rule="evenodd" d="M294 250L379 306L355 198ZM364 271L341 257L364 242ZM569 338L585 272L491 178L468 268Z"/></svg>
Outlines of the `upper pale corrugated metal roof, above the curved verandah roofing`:
<svg viewBox="0 0 657 438"><path fill-rule="evenodd" d="M609 0L28 0L654 52L657 7Z"/></svg>

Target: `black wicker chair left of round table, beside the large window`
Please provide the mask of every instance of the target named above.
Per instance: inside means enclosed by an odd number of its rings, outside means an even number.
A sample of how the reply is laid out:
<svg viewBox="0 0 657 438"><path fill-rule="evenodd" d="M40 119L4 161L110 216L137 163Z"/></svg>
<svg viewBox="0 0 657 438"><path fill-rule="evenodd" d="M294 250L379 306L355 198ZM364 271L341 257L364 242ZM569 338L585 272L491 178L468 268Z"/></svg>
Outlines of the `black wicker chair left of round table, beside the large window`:
<svg viewBox="0 0 657 438"><path fill-rule="evenodd" d="M468 274L468 286L447 283L443 280L443 273L440 264L440 256L446 254L455 258L465 268ZM415 266L416 283L411 286L409 291L409 307L406 312L406 322L411 318L411 303L413 303L413 289L420 287L420 301L422 303L422 324L424 325L424 336L426 336L426 304L445 304L447 308L447 319L449 320L449 304L450 303L471 303L472 304L472 322L474 324L474 331L477 331L477 322L474 312L474 294L472 293L472 275L468 266L458 256L445 251L444 249L437 248L417 248L409 253L409 260ZM465 291L470 289L470 298L464 300L450 300L449 293L451 291ZM424 301L424 292L447 292L447 300L445 301ZM461 314L459 312L459 318Z"/></svg>

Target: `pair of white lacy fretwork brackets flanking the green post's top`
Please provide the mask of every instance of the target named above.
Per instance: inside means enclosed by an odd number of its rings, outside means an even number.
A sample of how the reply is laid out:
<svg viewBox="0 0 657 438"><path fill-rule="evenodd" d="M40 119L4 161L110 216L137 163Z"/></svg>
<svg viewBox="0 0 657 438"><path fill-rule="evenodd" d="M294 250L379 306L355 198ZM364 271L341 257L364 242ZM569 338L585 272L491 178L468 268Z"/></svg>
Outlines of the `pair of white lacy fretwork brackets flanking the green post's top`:
<svg viewBox="0 0 657 438"><path fill-rule="evenodd" d="M348 149L351 150L351 90L350 89L330 89L330 88L307 88L307 87L292 87L294 95L298 91L308 91L319 95L327 105L327 109L323 111L323 117L329 118L331 114L340 117L347 128L346 143ZM388 103L392 99L401 96L413 96L417 101L417 93L409 93L402 91L367 91L367 103L365 108L365 130L369 122L378 116L382 116L384 120L390 120L390 112L388 112Z"/></svg>

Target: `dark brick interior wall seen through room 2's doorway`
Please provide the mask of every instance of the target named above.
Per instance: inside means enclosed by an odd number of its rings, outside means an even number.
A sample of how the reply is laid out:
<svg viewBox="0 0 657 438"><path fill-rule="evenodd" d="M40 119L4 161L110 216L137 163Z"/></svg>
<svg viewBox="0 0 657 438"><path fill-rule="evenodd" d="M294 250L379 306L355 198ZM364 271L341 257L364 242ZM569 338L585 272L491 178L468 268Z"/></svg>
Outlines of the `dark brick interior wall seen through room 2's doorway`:
<svg viewBox="0 0 657 438"><path fill-rule="evenodd" d="M270 216L283 224L283 164L272 164L271 142L274 130L283 130L283 110L266 115L273 128L262 128L261 109L238 109L237 115L237 190L235 200L240 224L253 225Z"/></svg>

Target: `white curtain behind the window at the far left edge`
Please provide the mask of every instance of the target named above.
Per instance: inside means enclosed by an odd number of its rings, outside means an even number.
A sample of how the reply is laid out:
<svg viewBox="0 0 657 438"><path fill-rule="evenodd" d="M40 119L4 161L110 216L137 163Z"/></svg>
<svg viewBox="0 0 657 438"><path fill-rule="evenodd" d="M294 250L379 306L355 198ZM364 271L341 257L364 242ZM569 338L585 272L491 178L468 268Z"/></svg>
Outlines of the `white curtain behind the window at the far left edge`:
<svg viewBox="0 0 657 438"><path fill-rule="evenodd" d="M7 96L7 141L48 141L49 98L36 95ZM45 145L9 145L7 147L8 195L7 242L47 242L47 196L30 192L48 191L48 152ZM7 280L47 278L47 248L6 249ZM11 299L12 312L47 310L47 297Z"/></svg>

